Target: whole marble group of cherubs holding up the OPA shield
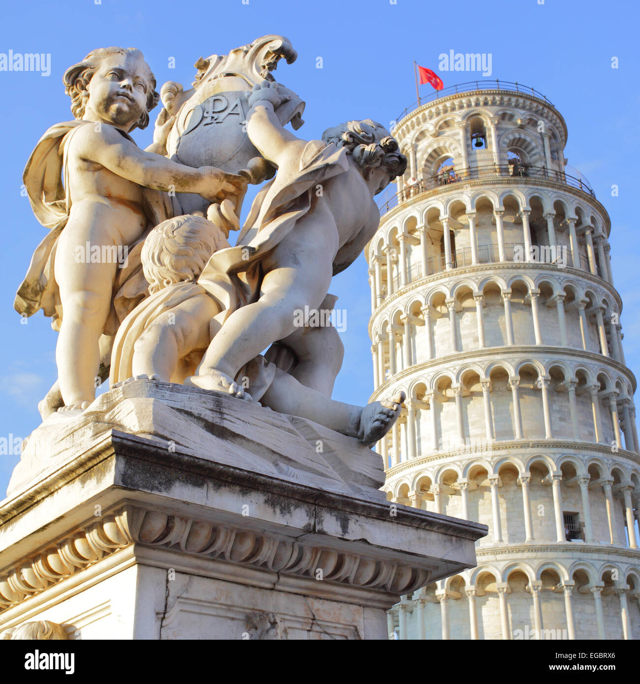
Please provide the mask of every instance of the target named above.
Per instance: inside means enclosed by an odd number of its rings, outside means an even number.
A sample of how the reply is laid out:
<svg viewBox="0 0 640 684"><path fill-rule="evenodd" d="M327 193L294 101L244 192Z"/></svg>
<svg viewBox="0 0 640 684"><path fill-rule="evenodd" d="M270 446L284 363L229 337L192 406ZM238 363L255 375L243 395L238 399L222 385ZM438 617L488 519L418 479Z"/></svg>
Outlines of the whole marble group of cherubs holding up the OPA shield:
<svg viewBox="0 0 640 684"><path fill-rule="evenodd" d="M14 304L58 332L44 423L80 415L107 379L225 393L367 446L396 421L402 393L331 399L340 337L295 321L333 307L331 277L374 235L373 198L407 160L372 120L294 134L305 103L274 80L282 58L296 59L290 42L264 36L201 58L192 88L159 94L137 49L97 49L66 70L74 119L49 128L25 168L48 232ZM142 150L131 133L159 101ZM249 183L265 184L241 224Z"/></svg>

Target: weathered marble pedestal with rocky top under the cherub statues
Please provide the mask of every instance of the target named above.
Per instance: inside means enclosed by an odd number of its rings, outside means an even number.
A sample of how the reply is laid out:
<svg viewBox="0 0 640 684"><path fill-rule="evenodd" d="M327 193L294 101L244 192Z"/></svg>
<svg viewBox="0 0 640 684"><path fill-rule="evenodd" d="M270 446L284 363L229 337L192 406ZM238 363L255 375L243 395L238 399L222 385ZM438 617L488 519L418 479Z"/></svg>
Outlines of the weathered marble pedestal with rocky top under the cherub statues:
<svg viewBox="0 0 640 684"><path fill-rule="evenodd" d="M386 639L402 594L475 565L477 523L385 501L356 440L138 380L38 428L0 503L0 631Z"/></svg>

